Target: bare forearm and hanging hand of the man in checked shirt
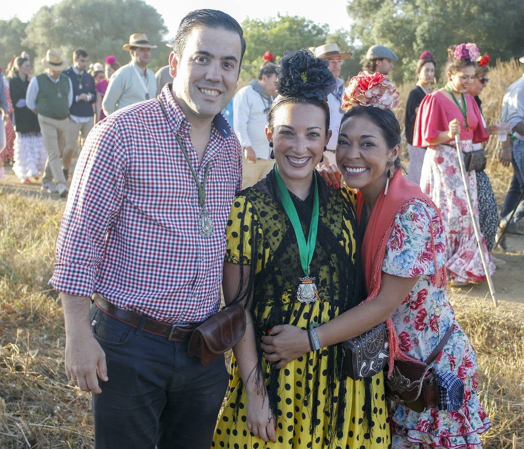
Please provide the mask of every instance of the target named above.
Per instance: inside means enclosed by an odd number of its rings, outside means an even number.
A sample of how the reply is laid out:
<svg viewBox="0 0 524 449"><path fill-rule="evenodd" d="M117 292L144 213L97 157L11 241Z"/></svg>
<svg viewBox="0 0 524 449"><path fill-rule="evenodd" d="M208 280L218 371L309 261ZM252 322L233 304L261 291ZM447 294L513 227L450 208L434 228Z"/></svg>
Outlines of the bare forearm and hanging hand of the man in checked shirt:
<svg viewBox="0 0 524 449"><path fill-rule="evenodd" d="M65 319L65 375L83 391L99 394L96 375L108 380L105 353L91 333L91 300L60 294Z"/></svg>

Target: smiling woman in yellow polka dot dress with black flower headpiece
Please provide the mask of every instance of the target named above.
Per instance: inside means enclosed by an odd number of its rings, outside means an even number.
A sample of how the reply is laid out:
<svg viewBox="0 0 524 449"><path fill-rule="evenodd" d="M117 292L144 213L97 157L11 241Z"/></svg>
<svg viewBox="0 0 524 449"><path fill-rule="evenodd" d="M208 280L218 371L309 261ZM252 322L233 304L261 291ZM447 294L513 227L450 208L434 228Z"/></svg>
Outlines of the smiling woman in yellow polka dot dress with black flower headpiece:
<svg viewBox="0 0 524 449"><path fill-rule="evenodd" d="M247 329L213 447L389 447L383 374L348 378L337 345L348 331L333 328L329 344L314 332L365 298L354 194L314 171L331 136L334 84L304 50L280 61L266 128L276 166L235 198L227 226L224 297L246 305ZM291 331L295 355L275 359L270 339Z"/></svg>

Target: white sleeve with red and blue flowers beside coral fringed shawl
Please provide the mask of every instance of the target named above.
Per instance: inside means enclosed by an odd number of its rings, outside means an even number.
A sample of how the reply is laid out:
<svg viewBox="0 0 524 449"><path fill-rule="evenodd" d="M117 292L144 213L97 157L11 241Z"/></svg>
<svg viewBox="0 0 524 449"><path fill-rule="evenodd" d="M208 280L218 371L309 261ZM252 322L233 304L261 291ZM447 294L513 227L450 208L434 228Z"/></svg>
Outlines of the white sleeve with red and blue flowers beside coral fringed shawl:
<svg viewBox="0 0 524 449"><path fill-rule="evenodd" d="M395 218L382 271L399 277L435 274L430 232L433 232L438 268L442 267L446 241L442 219L435 209L415 201Z"/></svg>

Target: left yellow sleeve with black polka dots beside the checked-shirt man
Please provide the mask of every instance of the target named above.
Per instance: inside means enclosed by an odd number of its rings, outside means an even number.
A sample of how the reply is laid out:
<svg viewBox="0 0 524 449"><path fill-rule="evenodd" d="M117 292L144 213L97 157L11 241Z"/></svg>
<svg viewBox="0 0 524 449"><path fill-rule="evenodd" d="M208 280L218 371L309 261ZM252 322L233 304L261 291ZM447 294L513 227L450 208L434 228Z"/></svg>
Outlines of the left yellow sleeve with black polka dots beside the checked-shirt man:
<svg viewBox="0 0 524 449"><path fill-rule="evenodd" d="M259 237L256 239L260 242L258 248L252 247L254 232ZM226 235L225 262L250 265L254 255L263 254L263 231L258 225L255 208L245 196L239 195L233 200L230 217L226 225ZM256 271L259 272L263 261L260 257L257 258L259 260Z"/></svg>

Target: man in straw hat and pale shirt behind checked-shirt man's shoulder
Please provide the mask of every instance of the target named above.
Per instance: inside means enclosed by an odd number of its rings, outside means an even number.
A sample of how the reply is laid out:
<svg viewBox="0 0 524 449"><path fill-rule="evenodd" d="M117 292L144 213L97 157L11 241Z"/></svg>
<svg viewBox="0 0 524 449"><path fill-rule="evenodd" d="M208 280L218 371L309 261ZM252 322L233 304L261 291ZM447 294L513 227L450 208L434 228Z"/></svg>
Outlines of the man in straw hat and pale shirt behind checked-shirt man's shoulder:
<svg viewBox="0 0 524 449"><path fill-rule="evenodd" d="M131 62L117 70L109 81L107 91L102 100L102 109L106 116L115 110L134 103L154 98L157 94L155 73L147 68L151 61L151 45L147 36L134 33L129 37L122 49L129 51Z"/></svg>

